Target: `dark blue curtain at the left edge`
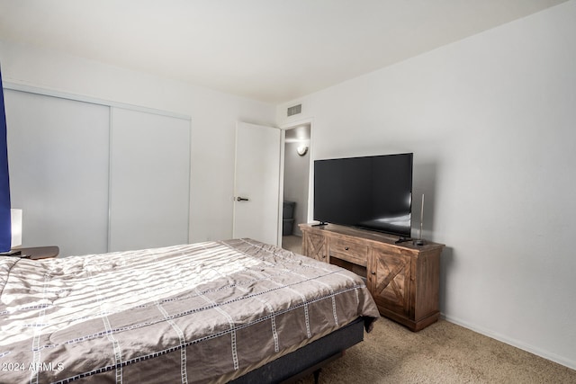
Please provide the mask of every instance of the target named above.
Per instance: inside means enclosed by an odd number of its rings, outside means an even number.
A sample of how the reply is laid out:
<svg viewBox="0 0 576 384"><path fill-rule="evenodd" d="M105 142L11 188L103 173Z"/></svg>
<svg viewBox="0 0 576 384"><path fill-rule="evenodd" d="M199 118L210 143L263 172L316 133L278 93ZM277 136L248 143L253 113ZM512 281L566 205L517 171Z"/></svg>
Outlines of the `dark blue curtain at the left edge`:
<svg viewBox="0 0 576 384"><path fill-rule="evenodd" d="M6 145L6 112L0 70L0 252L10 251L12 226L10 221L10 179L8 177L8 147Z"/></svg>

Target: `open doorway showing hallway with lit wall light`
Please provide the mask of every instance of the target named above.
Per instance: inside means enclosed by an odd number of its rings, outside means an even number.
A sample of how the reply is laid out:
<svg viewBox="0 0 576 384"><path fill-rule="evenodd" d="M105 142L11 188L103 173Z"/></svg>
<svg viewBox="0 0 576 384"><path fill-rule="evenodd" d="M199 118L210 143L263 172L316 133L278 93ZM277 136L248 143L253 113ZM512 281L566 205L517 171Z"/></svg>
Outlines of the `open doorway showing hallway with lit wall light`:
<svg viewBox="0 0 576 384"><path fill-rule="evenodd" d="M311 170L311 123L285 129L282 246L302 254L298 224L308 222Z"/></svg>

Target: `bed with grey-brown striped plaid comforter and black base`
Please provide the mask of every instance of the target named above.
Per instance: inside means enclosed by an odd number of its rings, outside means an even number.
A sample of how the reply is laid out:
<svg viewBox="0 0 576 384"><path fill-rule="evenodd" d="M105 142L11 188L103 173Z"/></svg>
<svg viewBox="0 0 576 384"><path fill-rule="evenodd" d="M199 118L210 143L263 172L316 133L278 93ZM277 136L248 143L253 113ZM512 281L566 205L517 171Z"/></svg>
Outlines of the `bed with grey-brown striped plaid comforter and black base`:
<svg viewBox="0 0 576 384"><path fill-rule="evenodd" d="M0 257L0 381L279 382L377 317L355 273L247 238Z"/></svg>

